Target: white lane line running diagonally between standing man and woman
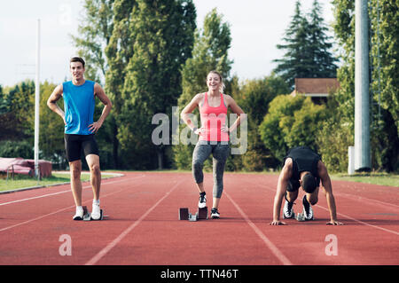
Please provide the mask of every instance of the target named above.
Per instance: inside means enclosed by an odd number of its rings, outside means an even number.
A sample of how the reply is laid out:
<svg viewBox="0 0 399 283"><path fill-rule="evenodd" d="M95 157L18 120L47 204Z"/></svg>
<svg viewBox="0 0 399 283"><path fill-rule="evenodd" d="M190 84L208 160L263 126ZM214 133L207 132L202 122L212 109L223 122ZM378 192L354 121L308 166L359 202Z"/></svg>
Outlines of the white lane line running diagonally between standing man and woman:
<svg viewBox="0 0 399 283"><path fill-rule="evenodd" d="M103 258L111 249L113 249L116 245L118 245L121 242L121 240L123 240L123 238L125 238L129 234L129 232L132 232L132 230L135 229L137 225L140 224L145 219L145 217L148 216L153 211L153 209L160 204L162 200L165 200L168 197L168 195L172 193L176 189L176 187L182 184L183 182L184 180L181 180L176 185L174 185L170 189L170 191L166 193L163 197L161 197L160 200L155 202L155 204L150 209L148 209L144 215L142 215L137 221L131 224L125 231L121 232L121 234L118 237L116 237L112 242L106 245L106 248L100 250L97 255L94 255L89 262L85 263L85 265L94 265L98 263L98 261L101 258Z"/></svg>

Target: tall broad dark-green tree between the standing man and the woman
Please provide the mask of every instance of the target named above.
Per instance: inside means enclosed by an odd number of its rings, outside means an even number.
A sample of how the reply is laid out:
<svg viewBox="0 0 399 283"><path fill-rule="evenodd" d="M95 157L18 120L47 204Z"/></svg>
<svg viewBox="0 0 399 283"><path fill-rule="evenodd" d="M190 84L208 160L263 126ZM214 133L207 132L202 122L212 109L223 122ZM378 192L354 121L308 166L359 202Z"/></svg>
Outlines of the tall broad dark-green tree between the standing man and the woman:
<svg viewBox="0 0 399 283"><path fill-rule="evenodd" d="M154 169L157 161L158 168L163 167L165 146L152 143L152 118L171 115L176 106L180 68L192 55L195 17L191 0L141 0L130 15L133 49L121 89L118 139L122 150L138 157L147 169ZM137 161L130 165L137 166Z"/></svg>

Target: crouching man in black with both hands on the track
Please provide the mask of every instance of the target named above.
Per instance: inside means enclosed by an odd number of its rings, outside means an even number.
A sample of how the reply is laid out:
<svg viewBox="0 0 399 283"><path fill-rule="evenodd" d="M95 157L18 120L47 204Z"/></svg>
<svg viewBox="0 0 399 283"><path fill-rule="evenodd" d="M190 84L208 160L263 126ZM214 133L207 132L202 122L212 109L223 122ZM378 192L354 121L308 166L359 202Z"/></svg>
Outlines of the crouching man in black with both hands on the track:
<svg viewBox="0 0 399 283"><path fill-rule="evenodd" d="M312 205L318 200L318 190L322 181L325 191L330 221L327 224L341 225L337 221L335 199L332 195L331 179L319 154L308 146L293 147L286 154L284 166L278 177L278 187L274 198L272 225L285 224L280 221L280 209L283 198L286 202L283 208L283 218L293 218L293 201L296 200L299 188L302 187L305 195L302 199L303 216L305 220L313 220Z"/></svg>

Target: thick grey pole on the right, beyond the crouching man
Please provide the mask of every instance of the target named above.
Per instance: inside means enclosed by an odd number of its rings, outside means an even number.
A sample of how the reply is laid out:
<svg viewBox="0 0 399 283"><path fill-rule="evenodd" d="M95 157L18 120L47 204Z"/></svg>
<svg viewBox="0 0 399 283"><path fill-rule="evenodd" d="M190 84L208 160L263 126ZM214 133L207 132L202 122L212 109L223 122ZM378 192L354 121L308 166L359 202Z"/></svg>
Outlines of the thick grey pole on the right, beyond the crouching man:
<svg viewBox="0 0 399 283"><path fill-rule="evenodd" d="M355 170L370 171L369 35L367 0L355 2Z"/></svg>

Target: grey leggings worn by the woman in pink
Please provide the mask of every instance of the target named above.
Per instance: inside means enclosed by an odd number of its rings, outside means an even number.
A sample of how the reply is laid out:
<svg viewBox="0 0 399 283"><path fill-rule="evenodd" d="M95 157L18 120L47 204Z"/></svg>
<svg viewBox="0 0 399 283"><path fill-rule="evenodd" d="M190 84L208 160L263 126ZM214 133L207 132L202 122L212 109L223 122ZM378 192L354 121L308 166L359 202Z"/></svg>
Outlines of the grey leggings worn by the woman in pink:
<svg viewBox="0 0 399 283"><path fill-rule="evenodd" d="M205 140L198 141L192 153L192 175L197 184L204 181L202 172L203 164L213 153L213 175L214 175L214 198L220 199L223 193L223 172L227 157L230 153L230 145L228 142L208 142Z"/></svg>

